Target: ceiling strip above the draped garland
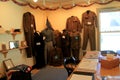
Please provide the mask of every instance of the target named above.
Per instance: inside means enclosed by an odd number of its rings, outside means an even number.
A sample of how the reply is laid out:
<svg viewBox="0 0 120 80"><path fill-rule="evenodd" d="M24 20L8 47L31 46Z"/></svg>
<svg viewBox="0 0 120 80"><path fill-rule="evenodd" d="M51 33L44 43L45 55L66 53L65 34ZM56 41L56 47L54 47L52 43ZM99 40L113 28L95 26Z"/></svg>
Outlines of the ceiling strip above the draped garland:
<svg viewBox="0 0 120 80"><path fill-rule="evenodd" d="M75 6L88 7L93 4L105 5L113 1L120 2L120 0L38 0L37 2L34 2L33 0L11 0L11 1L20 6L29 5L31 8L34 9L39 8L41 10L56 10L59 8L71 9Z"/></svg>

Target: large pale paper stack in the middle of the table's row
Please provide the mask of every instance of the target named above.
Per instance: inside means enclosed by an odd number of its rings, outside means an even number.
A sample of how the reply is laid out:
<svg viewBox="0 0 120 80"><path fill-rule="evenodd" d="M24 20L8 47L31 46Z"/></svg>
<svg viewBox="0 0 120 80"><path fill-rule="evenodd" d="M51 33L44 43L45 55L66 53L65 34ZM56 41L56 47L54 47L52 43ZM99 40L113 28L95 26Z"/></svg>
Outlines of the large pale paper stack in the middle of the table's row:
<svg viewBox="0 0 120 80"><path fill-rule="evenodd" d="M77 71L93 72L97 71L98 59L86 59L83 58L80 64L78 64Z"/></svg>

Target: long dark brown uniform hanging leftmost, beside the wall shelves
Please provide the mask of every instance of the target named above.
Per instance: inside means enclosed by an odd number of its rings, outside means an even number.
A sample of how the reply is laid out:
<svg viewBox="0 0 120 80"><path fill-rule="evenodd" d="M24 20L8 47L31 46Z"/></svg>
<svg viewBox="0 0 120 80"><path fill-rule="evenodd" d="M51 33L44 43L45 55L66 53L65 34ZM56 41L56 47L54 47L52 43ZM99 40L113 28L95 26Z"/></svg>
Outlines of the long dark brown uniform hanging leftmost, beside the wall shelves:
<svg viewBox="0 0 120 80"><path fill-rule="evenodd" d="M25 40L27 42L27 57L32 57L34 54L34 31L36 31L35 19L30 12L23 14L23 29L25 34Z"/></svg>

